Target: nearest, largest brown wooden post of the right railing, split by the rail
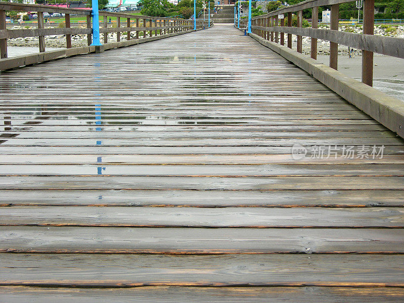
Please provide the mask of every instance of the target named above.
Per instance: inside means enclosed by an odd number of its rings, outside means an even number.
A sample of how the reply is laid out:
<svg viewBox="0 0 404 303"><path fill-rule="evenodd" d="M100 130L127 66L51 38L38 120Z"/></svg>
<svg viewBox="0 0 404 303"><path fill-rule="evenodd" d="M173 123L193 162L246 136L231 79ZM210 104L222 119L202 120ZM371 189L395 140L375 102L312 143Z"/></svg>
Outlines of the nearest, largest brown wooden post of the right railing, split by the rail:
<svg viewBox="0 0 404 303"><path fill-rule="evenodd" d="M363 33L373 35L375 0L365 0L363 7ZM362 82L373 86L373 53L362 51Z"/></svg>

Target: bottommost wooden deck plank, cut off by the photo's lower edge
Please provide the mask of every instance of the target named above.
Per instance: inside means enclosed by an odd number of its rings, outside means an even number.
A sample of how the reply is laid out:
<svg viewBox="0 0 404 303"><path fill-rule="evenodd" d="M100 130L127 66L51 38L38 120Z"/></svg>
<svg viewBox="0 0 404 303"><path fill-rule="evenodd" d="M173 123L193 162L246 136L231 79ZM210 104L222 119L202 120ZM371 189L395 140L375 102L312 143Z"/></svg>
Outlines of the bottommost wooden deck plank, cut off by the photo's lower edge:
<svg viewBox="0 0 404 303"><path fill-rule="evenodd" d="M294 301L312 303L396 303L404 300L404 290L397 287L181 287L145 286L131 288L52 288L0 286L0 296L6 302L97 303L99 300L117 303L279 303Z"/></svg>

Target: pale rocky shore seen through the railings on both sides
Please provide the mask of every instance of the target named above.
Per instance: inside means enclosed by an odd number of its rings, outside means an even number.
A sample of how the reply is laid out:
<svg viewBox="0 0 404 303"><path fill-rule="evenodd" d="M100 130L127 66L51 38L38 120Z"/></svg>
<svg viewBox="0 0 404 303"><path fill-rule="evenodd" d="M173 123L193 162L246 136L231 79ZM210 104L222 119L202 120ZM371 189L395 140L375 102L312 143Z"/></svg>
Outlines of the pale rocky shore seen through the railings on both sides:
<svg viewBox="0 0 404 303"><path fill-rule="evenodd" d="M35 27L28 26L14 26L9 29L33 29ZM327 29L329 26L319 26L320 29ZM362 26L350 26L350 25L342 25L339 27L340 31L345 32L354 32L354 33L362 33ZM391 37L399 37L404 38L404 26L394 26L391 24L381 24L375 26L374 29L375 35L381 36L391 36ZM135 32L131 32L131 37L135 38ZM100 34L100 40L104 40L104 34ZM108 34L108 41L115 42L117 40L116 33ZM121 33L121 40L126 40L126 32ZM297 42L297 37L292 36L292 45L295 49ZM37 37L26 37L26 38L15 38L8 39L8 45L10 46L38 46L38 38ZM285 34L285 44L287 43L287 35ZM87 35L73 35L72 36L72 46L85 46L87 45ZM310 54L310 45L311 41L308 37L302 38L302 52L304 54ZM53 35L53 36L45 36L45 46L46 47L66 47L66 38L63 35ZM330 43L325 40L318 40L317 44L317 52L319 55L329 55L330 54ZM348 47L339 45L338 46L338 54L345 55L348 53ZM354 55L361 55L361 51L358 49L354 49Z"/></svg>

